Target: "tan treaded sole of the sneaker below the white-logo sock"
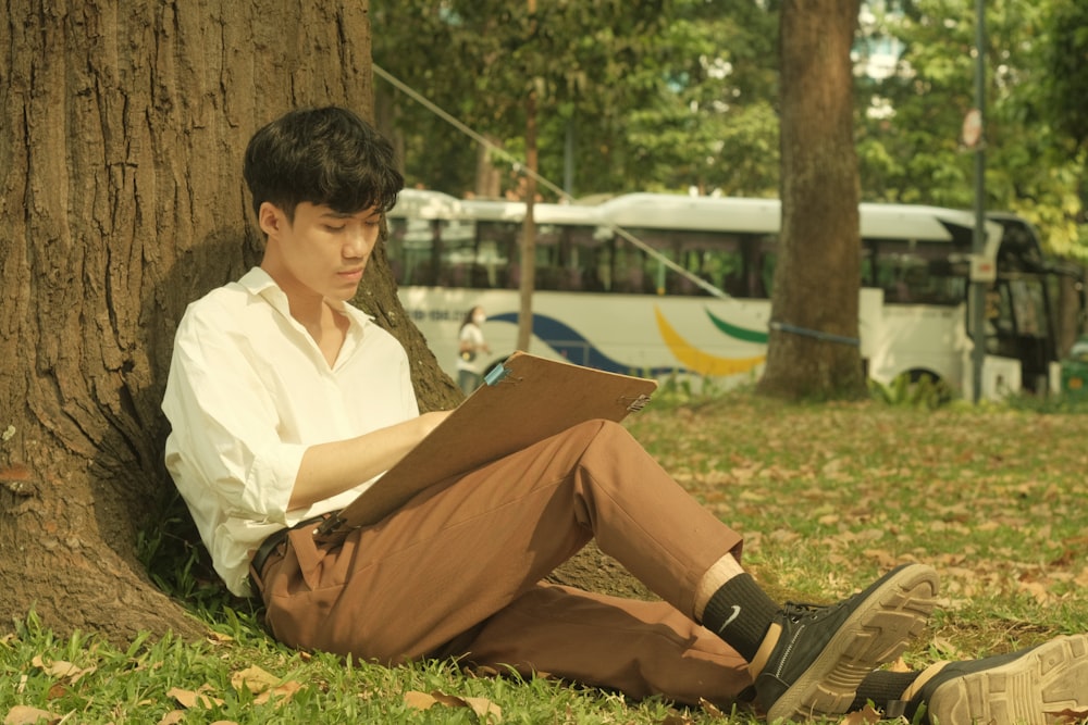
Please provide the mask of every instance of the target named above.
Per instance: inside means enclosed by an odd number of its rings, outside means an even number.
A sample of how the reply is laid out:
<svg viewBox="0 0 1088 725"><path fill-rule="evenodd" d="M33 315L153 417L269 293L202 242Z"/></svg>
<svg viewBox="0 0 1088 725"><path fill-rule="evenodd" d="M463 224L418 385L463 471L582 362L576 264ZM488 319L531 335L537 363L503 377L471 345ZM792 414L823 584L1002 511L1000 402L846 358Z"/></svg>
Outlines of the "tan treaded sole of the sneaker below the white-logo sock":
<svg viewBox="0 0 1088 725"><path fill-rule="evenodd" d="M937 603L937 572L901 568L858 604L824 651L771 705L767 722L839 715L867 674L898 658L926 626ZM959 721L949 721L959 722Z"/></svg>

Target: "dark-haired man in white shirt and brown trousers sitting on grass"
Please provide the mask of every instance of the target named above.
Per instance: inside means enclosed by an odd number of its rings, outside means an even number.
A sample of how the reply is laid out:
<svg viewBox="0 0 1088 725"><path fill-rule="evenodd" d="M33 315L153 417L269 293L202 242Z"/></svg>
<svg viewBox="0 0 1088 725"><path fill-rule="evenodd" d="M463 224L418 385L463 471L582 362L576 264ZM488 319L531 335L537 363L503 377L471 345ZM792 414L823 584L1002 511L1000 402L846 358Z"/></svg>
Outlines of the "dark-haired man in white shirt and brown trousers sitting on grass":
<svg viewBox="0 0 1088 725"><path fill-rule="evenodd" d="M923 629L930 567L901 566L833 607L779 607L741 567L741 537L603 421L433 482L335 546L316 541L322 515L447 414L419 414L404 350L348 303L403 178L388 142L337 108L260 129L244 176L264 257L180 324L166 465L217 571L237 595L252 582L281 641L388 664L456 655L632 697L751 695L770 721L867 700L936 715L991 676L1029 691L1047 677L1088 683L1088 638L925 677L878 671ZM593 538L663 601L541 583ZM1042 722L1048 697L1028 698L1026 722ZM973 717L999 712L972 703Z"/></svg>

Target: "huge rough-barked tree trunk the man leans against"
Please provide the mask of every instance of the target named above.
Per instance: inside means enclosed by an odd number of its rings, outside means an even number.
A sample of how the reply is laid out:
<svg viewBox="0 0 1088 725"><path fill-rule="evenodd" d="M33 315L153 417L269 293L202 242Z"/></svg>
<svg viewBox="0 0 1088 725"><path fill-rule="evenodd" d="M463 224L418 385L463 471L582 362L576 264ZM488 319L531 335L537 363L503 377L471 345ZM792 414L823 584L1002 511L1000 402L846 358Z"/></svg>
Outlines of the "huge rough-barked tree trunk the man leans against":
<svg viewBox="0 0 1088 725"><path fill-rule="evenodd" d="M251 133L296 105L371 114L368 3L13 0L0 100L0 612L115 640L194 633L135 555L172 491L173 333L259 259ZM455 401L384 253L364 288L423 407Z"/></svg>

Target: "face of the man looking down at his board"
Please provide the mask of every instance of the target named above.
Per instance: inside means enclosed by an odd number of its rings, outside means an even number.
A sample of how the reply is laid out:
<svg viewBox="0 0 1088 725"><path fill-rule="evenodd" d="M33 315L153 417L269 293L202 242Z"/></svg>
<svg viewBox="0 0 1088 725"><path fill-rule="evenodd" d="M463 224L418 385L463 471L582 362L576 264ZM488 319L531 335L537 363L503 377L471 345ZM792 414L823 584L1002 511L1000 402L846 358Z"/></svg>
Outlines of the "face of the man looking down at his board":
<svg viewBox="0 0 1088 725"><path fill-rule="evenodd" d="M355 297L378 243L382 215L374 209L344 214L304 201L288 222L273 210L276 215L270 217L270 226L262 215L262 228L279 246L283 271L297 283L297 291L338 301Z"/></svg>

